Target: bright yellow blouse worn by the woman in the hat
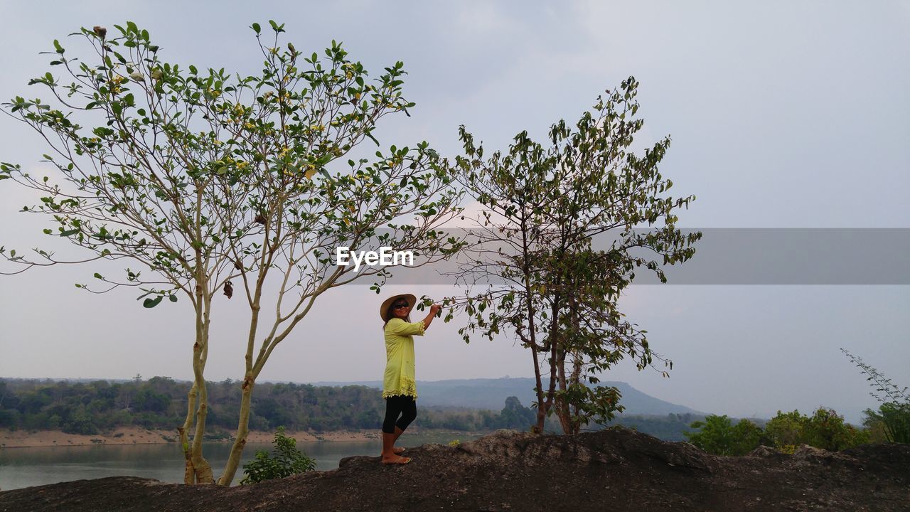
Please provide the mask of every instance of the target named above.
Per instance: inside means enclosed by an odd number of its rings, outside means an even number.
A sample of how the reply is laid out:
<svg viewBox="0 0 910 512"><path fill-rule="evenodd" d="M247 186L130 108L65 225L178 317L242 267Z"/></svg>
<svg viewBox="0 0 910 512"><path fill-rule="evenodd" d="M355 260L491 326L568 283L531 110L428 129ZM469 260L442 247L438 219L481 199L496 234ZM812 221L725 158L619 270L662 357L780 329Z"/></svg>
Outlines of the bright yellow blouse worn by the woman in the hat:
<svg viewBox="0 0 910 512"><path fill-rule="evenodd" d="M414 336L423 335L423 321L405 322L396 317L386 323L386 374L382 380L382 397L403 394L417 398L414 379Z"/></svg>

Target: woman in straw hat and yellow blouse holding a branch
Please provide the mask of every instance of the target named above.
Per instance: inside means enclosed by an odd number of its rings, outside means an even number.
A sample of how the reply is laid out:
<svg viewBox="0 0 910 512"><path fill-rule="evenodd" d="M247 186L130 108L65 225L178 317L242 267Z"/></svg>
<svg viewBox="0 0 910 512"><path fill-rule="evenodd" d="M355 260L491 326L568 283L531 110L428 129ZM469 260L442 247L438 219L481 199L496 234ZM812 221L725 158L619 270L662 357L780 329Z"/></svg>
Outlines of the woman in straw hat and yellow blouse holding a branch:
<svg viewBox="0 0 910 512"><path fill-rule="evenodd" d="M416 302L417 297L407 293L389 297L379 307L386 336L386 373L382 384L386 417L382 422L382 464L410 462L410 457L399 456L404 448L396 448L395 441L417 417L414 335L422 336L441 309L439 304L433 304L426 318L411 322L410 308Z"/></svg>

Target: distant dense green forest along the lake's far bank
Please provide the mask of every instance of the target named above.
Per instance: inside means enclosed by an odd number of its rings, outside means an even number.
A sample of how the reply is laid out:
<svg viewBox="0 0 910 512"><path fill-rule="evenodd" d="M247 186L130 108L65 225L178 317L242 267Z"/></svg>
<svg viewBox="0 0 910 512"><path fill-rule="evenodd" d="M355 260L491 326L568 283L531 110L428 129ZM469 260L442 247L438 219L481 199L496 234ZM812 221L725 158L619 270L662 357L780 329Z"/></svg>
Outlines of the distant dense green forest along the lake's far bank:
<svg viewBox="0 0 910 512"><path fill-rule="evenodd" d="M210 438L224 438L235 428L240 407L237 383L207 383L213 398L208 412ZM0 380L0 428L60 430L97 435L119 426L175 430L186 408L187 383L169 377L127 382L87 383ZM256 387L250 413L253 430L321 433L344 429L377 429L385 402L376 389L362 385L314 386L262 383ZM422 408L420 428L482 432L497 428L527 430L535 414L510 396L501 411Z"/></svg>

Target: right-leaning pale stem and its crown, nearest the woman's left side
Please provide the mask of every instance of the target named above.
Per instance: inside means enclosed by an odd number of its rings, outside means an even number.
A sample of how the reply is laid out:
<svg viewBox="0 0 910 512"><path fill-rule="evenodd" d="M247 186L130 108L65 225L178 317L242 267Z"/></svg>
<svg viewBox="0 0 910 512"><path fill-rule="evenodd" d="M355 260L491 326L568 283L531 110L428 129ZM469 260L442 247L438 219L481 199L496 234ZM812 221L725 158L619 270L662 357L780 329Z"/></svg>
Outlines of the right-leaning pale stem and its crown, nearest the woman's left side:
<svg viewBox="0 0 910 512"><path fill-rule="evenodd" d="M369 84L363 66L350 61L334 41L326 50L324 67L315 54L300 63L301 54L292 44L278 49L283 26L271 26L273 46L260 42L266 57L263 75L244 79L233 89L248 92L254 104L267 106L256 123L269 119L257 139L267 141L268 150L254 144L248 158L270 155L272 166L262 169L268 188L254 201L262 225L260 238L244 251L235 251L238 258L252 256L258 264L239 271L250 308L248 343L238 430L218 479L221 485L229 485L237 471L247 441L253 387L278 343L330 288L375 276L379 281L371 288L379 293L390 276L384 267L358 270L337 265L330 257L336 248L410 251L420 257L412 266L420 266L448 258L463 245L438 230L459 213L456 205L462 194L451 187L450 175L426 142L415 148L390 146L385 153L377 151L372 162L349 159L345 172L334 175L326 169L364 139L376 141L372 132L379 118L413 107L401 96L402 63L386 67L386 73ZM253 29L261 41L259 26L254 24ZM244 126L247 122L241 120ZM403 216L413 216L414 224L394 223ZM257 351L262 293L273 270L280 282L276 312Z"/></svg>

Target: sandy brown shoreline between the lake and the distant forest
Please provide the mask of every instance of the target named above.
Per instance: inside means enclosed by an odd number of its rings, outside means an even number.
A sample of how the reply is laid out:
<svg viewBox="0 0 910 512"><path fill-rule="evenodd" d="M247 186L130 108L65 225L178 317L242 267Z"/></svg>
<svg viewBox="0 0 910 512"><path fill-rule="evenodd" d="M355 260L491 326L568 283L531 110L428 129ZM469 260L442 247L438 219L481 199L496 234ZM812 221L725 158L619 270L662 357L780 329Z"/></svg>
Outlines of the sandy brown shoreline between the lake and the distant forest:
<svg viewBox="0 0 910 512"><path fill-rule="evenodd" d="M379 439L379 431L331 431L314 434L306 431L287 431L298 443L318 441L372 441ZM274 432L251 431L248 443L271 443ZM93 445L162 445L177 443L177 431L147 429L140 426L123 426L96 435L66 434L59 430L0 430L0 449L40 448L48 446L93 446ZM228 443L233 437L206 439L206 443Z"/></svg>

